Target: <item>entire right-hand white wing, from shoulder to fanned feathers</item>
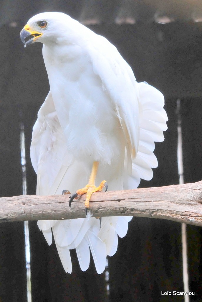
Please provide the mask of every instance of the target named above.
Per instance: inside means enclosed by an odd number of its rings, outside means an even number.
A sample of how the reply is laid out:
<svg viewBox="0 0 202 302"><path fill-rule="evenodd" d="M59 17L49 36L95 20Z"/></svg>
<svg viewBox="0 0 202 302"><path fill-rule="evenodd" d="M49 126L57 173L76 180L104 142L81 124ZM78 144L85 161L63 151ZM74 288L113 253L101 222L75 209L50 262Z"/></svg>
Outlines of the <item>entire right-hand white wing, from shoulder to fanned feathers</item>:
<svg viewBox="0 0 202 302"><path fill-rule="evenodd" d="M140 178L150 180L151 168L158 165L153 151L154 142L163 141L163 131L167 129L164 97L151 85L136 82L131 67L106 38L94 34L92 40L88 51L93 71L110 95L125 135L128 165L124 188L134 188Z"/></svg>

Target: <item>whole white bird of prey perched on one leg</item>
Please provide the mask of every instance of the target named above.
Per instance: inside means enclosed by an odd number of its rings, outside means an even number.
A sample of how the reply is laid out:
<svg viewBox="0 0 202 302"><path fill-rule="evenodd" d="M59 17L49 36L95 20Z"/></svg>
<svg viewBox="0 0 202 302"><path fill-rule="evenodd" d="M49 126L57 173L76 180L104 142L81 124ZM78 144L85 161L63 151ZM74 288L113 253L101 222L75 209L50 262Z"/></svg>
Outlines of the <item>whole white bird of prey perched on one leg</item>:
<svg viewBox="0 0 202 302"><path fill-rule="evenodd" d="M150 180L151 168L157 167L154 141L163 141L167 129L161 92L137 83L115 46L66 14L37 14L24 26L21 40L25 46L43 43L50 84L31 143L37 194L61 194L65 188L87 192L87 211L92 192L106 186L103 179L110 190ZM53 233L66 272L72 271L70 249L76 249L81 270L89 267L91 251L100 274L131 218L43 220L38 226L49 245Z"/></svg>

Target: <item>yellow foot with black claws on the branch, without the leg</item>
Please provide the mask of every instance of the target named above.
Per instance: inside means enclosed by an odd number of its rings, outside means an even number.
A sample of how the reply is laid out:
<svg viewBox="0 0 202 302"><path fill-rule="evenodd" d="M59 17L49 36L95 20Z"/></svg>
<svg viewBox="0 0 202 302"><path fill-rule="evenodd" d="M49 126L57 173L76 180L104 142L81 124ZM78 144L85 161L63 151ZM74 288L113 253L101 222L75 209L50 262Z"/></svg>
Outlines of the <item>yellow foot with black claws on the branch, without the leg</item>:
<svg viewBox="0 0 202 302"><path fill-rule="evenodd" d="M105 192L107 191L108 185L105 180L103 180L98 187L95 185L87 184L84 188L79 189L74 193L70 200L69 200L69 206L71 207L71 203L74 199L79 198L81 195L86 194L86 200L85 200L85 213L87 215L88 208L89 208L89 201L90 197L94 192L101 192L103 190L103 187L105 187Z"/></svg>

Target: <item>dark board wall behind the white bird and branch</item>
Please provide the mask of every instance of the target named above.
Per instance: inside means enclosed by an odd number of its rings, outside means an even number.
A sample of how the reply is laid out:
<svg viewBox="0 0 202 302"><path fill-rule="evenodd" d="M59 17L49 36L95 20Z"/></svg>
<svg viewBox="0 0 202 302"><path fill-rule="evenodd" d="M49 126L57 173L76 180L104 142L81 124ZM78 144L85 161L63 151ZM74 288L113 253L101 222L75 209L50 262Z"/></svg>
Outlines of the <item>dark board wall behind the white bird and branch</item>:
<svg viewBox="0 0 202 302"><path fill-rule="evenodd" d="M165 96L169 121L156 143L159 167L141 187L178 184L176 100L181 100L185 182L202 179L202 4L201 1L2 1L0 3L0 194L22 194L20 125L25 127L27 194L35 194L30 163L32 127L49 84L40 43L24 49L19 33L42 11L63 11L108 38L134 70ZM158 22L167 22L160 24ZM66 274L54 244L30 222L32 300L35 302L184 301L161 291L183 291L181 224L135 217L105 273L91 261L81 272L74 251ZM201 228L187 226L190 301L201 301ZM0 225L0 301L27 301L24 223Z"/></svg>

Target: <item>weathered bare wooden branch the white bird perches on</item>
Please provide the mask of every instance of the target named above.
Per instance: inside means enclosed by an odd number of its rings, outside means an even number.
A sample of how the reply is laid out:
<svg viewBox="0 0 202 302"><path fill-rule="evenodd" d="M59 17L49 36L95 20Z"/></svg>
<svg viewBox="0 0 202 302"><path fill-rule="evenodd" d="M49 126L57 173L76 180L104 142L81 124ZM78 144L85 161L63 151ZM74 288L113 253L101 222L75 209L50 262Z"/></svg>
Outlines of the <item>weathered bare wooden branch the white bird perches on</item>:
<svg viewBox="0 0 202 302"><path fill-rule="evenodd" d="M0 198L0 222L61 220L85 217L84 199L68 205L71 195ZM138 216L162 218L202 226L202 181L124 191L94 193L92 217Z"/></svg>

